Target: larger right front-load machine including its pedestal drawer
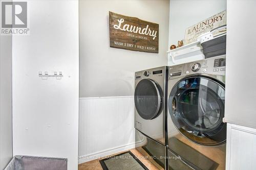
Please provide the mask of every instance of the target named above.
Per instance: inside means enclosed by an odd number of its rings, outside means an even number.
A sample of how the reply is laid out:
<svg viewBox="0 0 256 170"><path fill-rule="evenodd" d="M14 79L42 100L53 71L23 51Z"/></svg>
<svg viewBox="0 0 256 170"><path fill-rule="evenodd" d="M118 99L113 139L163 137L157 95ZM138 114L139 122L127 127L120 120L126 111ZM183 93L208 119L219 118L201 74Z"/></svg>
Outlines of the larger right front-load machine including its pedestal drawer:
<svg viewBox="0 0 256 170"><path fill-rule="evenodd" d="M225 169L225 56L169 67L169 169Z"/></svg>

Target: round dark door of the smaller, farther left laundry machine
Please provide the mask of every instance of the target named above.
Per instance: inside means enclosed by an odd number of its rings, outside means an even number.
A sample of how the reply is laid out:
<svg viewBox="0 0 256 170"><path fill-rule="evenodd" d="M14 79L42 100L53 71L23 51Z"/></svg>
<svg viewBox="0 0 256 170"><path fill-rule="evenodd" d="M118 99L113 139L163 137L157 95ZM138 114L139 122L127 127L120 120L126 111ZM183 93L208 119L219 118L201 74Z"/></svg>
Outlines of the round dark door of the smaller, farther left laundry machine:
<svg viewBox="0 0 256 170"><path fill-rule="evenodd" d="M162 109L162 90L151 79L141 80L135 89L135 107L139 115L144 119L153 119L159 115Z"/></svg>

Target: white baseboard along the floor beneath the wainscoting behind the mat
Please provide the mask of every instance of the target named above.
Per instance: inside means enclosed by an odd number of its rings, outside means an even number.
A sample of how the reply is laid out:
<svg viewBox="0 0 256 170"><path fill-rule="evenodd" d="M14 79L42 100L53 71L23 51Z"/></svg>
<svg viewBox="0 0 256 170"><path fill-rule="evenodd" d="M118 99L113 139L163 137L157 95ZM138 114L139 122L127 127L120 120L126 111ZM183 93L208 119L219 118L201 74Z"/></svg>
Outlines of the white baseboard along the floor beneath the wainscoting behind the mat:
<svg viewBox="0 0 256 170"><path fill-rule="evenodd" d="M102 158L102 157L105 157L105 156L113 155L113 154L116 154L116 153L119 153L119 152L127 151L127 150L130 150L130 149L133 149L133 148L135 148L135 142L130 143L130 144L125 144L125 145L122 145L122 146L119 146L119 147L115 147L115 148L95 152L95 153L88 154L88 155L82 155L82 156L78 157L78 164L89 162L91 160Z"/></svg>

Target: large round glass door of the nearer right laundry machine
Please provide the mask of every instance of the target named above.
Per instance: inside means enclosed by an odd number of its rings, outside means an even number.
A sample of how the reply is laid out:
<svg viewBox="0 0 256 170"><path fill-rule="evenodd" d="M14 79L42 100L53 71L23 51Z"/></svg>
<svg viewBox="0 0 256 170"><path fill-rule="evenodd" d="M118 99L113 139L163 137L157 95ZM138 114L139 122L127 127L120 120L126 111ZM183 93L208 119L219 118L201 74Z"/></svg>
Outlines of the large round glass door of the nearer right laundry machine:
<svg viewBox="0 0 256 170"><path fill-rule="evenodd" d="M207 77L189 77L174 86L168 108L173 123L186 138L217 145L226 140L224 102L223 84Z"/></svg>

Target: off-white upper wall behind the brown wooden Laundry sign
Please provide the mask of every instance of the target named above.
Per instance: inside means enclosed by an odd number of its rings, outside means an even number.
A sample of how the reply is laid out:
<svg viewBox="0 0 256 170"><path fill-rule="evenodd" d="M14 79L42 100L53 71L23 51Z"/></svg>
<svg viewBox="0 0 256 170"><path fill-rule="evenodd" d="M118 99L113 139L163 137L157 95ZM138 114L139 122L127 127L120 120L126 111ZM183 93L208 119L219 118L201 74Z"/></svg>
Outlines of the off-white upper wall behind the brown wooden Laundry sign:
<svg viewBox="0 0 256 170"><path fill-rule="evenodd" d="M111 48L109 11L159 24L159 54ZM134 94L134 72L167 65L169 1L79 1L80 97Z"/></svg>

